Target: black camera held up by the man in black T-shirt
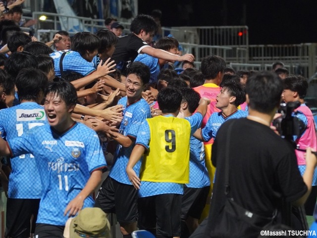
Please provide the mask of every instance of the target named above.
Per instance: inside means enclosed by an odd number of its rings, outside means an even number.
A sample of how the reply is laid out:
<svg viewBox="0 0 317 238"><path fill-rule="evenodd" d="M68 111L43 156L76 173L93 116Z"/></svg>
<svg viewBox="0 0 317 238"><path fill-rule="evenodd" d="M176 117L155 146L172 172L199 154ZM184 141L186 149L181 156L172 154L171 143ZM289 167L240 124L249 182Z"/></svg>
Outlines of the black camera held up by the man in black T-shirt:
<svg viewBox="0 0 317 238"><path fill-rule="evenodd" d="M282 138L285 138L296 148L293 136L300 137L306 129L306 126L303 121L293 117L292 113L296 108L301 105L299 101L281 103L278 113L281 113L282 116L273 120L273 125L276 127L276 130L279 132Z"/></svg>

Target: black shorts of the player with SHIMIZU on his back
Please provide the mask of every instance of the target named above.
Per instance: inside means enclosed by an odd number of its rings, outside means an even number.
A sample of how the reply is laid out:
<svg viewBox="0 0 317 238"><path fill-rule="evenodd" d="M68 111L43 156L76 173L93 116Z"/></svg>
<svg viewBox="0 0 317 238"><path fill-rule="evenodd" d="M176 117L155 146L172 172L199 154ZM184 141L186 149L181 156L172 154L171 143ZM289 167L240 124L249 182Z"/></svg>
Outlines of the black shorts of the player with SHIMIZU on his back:
<svg viewBox="0 0 317 238"><path fill-rule="evenodd" d="M39 205L40 199L8 198L6 202L5 237L30 237L30 234L34 233Z"/></svg>

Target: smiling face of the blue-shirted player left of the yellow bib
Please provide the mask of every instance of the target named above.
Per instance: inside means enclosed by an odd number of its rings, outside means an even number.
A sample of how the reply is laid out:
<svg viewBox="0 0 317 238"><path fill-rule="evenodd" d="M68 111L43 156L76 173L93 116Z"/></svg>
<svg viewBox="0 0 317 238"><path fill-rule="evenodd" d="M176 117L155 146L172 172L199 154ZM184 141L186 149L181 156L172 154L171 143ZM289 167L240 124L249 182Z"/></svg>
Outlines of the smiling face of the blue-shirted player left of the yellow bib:
<svg viewBox="0 0 317 238"><path fill-rule="evenodd" d="M144 85L136 74L131 73L127 76L125 89L129 104L134 103L141 98L143 88Z"/></svg>

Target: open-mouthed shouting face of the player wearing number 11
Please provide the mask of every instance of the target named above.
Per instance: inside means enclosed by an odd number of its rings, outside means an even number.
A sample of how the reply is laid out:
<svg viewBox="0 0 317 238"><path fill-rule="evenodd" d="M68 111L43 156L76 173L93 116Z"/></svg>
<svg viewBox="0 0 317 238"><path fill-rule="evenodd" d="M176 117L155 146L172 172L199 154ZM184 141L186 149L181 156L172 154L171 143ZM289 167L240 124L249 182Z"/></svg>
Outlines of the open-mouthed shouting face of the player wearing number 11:
<svg viewBox="0 0 317 238"><path fill-rule="evenodd" d="M49 124L57 131L65 131L71 126L70 118L74 106L67 106L59 96L49 93L44 102L44 110Z"/></svg>

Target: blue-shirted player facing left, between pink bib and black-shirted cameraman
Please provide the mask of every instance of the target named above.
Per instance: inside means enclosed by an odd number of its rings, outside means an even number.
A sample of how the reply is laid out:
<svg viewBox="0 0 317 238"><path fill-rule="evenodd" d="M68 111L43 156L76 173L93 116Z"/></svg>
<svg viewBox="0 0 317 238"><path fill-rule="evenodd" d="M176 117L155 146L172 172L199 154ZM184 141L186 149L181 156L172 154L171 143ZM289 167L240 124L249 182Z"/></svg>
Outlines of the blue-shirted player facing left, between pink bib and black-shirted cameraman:
<svg viewBox="0 0 317 238"><path fill-rule="evenodd" d="M221 90L217 94L215 107L221 110L213 113L202 130L195 132L195 137L210 141L215 138L218 129L228 119L246 118L248 112L238 110L238 106L246 100L246 94L240 82L226 81L221 83Z"/></svg>

